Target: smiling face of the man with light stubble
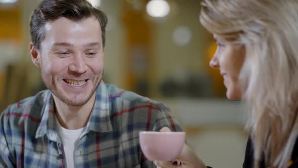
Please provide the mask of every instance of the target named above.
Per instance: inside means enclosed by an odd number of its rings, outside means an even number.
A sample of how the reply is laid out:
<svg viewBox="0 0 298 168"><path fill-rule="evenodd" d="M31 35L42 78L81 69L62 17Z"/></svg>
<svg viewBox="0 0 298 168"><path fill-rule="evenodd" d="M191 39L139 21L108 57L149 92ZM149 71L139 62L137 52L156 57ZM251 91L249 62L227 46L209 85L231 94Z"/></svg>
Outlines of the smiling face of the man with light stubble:
<svg viewBox="0 0 298 168"><path fill-rule="evenodd" d="M37 63L33 61L41 68L45 86L67 105L84 105L95 94L104 71L100 23L95 17L81 21L62 17L48 22L45 29Z"/></svg>

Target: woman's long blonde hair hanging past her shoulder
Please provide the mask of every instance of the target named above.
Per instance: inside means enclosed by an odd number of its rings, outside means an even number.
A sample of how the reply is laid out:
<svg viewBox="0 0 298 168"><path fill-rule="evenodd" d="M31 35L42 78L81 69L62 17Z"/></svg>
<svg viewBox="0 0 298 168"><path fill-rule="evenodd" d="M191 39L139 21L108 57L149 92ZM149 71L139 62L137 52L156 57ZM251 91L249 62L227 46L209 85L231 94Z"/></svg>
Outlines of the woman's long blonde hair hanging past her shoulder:
<svg viewBox="0 0 298 168"><path fill-rule="evenodd" d="M298 1L205 0L200 21L245 46L239 78L255 167L263 154L266 167L286 167L298 135Z"/></svg>

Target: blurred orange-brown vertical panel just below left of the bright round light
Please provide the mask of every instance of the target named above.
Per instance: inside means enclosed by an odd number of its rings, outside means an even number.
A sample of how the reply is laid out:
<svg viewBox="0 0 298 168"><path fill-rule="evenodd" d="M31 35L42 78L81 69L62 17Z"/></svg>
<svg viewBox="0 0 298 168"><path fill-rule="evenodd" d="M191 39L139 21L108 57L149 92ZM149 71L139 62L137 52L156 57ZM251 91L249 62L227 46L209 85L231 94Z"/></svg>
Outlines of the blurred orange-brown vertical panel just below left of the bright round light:
<svg viewBox="0 0 298 168"><path fill-rule="evenodd" d="M124 3L122 22L125 26L126 47L128 58L125 62L125 89L142 96L152 96L150 90L153 56L151 55L152 27L146 19L144 7L147 1L142 2L142 10L132 8L131 4Z"/></svg>

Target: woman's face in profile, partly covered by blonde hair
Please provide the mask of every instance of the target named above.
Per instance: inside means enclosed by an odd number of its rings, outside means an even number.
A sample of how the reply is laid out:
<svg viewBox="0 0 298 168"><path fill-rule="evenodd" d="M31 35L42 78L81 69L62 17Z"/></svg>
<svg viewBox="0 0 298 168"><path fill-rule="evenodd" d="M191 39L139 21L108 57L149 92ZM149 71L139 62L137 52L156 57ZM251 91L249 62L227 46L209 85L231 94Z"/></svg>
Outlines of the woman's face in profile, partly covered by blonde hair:
<svg viewBox="0 0 298 168"><path fill-rule="evenodd" d="M227 88L227 98L240 100L242 92L240 90L239 73L245 58L245 47L227 43L218 35L214 35L214 39L217 43L217 49L210 61L210 66L220 69L220 74L224 78L224 85Z"/></svg>

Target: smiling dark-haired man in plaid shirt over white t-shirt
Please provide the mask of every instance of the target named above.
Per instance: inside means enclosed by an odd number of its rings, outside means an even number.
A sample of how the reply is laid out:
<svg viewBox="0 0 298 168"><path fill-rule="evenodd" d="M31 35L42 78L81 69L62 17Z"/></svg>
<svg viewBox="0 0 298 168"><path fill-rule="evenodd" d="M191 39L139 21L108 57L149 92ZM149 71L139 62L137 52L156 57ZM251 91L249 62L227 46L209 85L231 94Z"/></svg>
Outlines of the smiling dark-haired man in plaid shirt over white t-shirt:
<svg viewBox="0 0 298 168"><path fill-rule="evenodd" d="M45 0L30 53L48 90L0 117L0 167L153 167L139 131L181 131L161 103L102 81L106 15L86 0Z"/></svg>

